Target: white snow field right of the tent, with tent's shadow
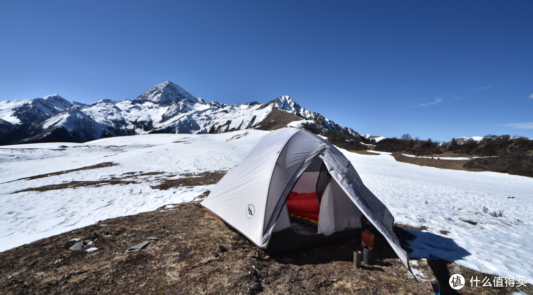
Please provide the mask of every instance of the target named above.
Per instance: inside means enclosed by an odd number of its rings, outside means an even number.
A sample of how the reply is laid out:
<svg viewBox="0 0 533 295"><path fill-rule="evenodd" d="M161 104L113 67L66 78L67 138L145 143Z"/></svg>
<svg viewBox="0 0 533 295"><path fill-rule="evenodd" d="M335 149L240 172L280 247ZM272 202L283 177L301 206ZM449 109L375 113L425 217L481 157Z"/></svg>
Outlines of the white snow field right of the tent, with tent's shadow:
<svg viewBox="0 0 533 295"><path fill-rule="evenodd" d="M411 242L411 257L442 258L503 277L533 278L533 179L417 166L396 162L383 152L343 153L396 223L427 227L410 231L417 237ZM500 210L503 217L489 214Z"/></svg>

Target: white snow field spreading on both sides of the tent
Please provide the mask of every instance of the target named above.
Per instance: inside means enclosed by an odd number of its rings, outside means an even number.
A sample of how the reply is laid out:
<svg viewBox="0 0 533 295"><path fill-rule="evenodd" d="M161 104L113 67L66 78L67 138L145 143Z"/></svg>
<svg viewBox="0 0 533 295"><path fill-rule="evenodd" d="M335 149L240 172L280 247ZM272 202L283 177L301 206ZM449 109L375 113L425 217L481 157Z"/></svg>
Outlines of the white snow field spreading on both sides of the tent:
<svg viewBox="0 0 533 295"><path fill-rule="evenodd" d="M151 186L159 178L180 178L177 174L181 173L227 170L238 164L265 133L243 130L203 135L149 134L85 144L1 147L0 251L107 218L193 200L213 186L197 186L187 192L186 188L160 191ZM52 150L61 145L68 148ZM427 227L410 231L417 237L410 245L414 250L411 257L442 258L482 272L532 280L533 225L529 205L533 179L400 163L389 153L378 152L381 155L374 156L342 151L366 186L389 208L396 223ZM118 165L13 181L103 162ZM132 172L133 175L124 174ZM63 182L103 182L114 178L139 183L12 193ZM500 210L503 217L489 215Z"/></svg>

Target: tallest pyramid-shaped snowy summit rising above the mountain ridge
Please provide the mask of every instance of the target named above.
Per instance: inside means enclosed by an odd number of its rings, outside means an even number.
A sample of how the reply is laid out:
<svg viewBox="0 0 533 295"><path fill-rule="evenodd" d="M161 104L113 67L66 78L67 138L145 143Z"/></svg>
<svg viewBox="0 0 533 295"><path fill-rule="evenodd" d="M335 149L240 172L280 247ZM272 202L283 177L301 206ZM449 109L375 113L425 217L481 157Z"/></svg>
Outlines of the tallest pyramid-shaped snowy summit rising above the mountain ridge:
<svg viewBox="0 0 533 295"><path fill-rule="evenodd" d="M189 101L191 103L204 103L204 100L191 95L179 85L172 83L170 80L156 85L146 91L135 100L143 102L153 102L162 105L170 105Z"/></svg>

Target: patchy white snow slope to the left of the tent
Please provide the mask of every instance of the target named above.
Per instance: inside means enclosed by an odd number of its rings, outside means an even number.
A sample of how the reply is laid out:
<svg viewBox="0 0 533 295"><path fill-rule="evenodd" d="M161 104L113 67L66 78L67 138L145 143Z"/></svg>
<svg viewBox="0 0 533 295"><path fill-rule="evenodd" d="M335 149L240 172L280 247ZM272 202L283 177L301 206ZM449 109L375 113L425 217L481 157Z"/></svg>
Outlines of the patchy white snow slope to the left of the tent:
<svg viewBox="0 0 533 295"><path fill-rule="evenodd" d="M107 218L134 215L165 204L191 201L214 185L163 191L152 189L151 186L156 185L158 178L163 175L166 176L165 179L177 179L181 177L177 174L181 173L228 170L238 164L248 148L265 133L266 131L248 130L193 135L190 138L187 138L190 134L151 134L100 139L86 142L81 149L69 147L62 151L26 150L21 149L21 146L0 148L3 167L0 170L3 182L0 183L0 199L4 204L0 207L0 238L3 241L0 251ZM39 145L41 144L22 146L36 148ZM57 148L62 144L42 145L45 148ZM119 145L121 147L116 147ZM12 181L103 162L119 165ZM124 175L132 172L135 174ZM139 172L161 173L137 176L141 174ZM72 181L98 181L103 184L114 178L139 183L12 193Z"/></svg>

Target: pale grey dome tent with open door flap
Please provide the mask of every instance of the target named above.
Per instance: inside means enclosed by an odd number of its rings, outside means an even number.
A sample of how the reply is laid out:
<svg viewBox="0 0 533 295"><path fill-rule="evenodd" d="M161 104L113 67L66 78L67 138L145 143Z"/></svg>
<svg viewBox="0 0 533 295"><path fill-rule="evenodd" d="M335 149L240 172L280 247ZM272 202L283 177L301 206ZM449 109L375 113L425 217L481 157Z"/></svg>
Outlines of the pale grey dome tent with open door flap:
<svg viewBox="0 0 533 295"><path fill-rule="evenodd" d="M298 203L300 197L303 203ZM288 206L290 198L300 209ZM300 212L306 210L305 202L319 203L319 211L302 216L307 214ZM392 231L389 209L340 150L304 130L283 128L263 136L201 205L267 255L360 236L365 215L409 265ZM312 218L316 213L318 221Z"/></svg>

